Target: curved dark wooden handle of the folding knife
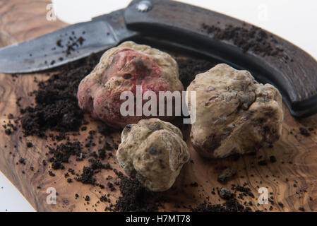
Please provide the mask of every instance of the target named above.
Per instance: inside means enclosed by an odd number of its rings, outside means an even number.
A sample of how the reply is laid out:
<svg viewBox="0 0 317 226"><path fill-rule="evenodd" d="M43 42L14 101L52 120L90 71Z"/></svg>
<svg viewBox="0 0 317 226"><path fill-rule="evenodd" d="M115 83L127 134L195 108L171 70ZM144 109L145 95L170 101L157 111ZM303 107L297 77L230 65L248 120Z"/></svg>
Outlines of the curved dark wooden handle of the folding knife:
<svg viewBox="0 0 317 226"><path fill-rule="evenodd" d="M143 5L139 7L141 1ZM124 18L131 30L191 47L237 69L251 71L258 81L271 83L280 90L294 117L317 112L317 61L281 37L263 30L264 35L275 40L271 47L282 49L282 54L262 54L252 48L246 51L234 40L220 40L213 30L204 28L226 29L231 25L251 29L252 25L177 1L134 0L126 8ZM244 41L248 42L247 39Z"/></svg>

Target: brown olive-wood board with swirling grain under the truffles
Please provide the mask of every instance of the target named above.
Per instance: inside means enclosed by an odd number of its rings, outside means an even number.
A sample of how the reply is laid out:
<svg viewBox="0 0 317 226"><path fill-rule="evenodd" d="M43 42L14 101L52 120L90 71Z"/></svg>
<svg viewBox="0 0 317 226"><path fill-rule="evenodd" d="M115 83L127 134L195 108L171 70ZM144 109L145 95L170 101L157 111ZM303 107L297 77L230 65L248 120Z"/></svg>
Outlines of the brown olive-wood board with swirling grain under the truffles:
<svg viewBox="0 0 317 226"><path fill-rule="evenodd" d="M46 4L49 1L0 1L0 30L2 35L0 40L2 45L8 42L20 42L30 37L36 37L45 32L49 32L56 28L64 26L60 21L49 22L45 19ZM21 6L23 4L23 6ZM17 14L16 14L17 13ZM15 17L19 15L19 23L15 22ZM22 19L22 18L25 18ZM28 23L25 21L29 20ZM5 37L4 37L5 36ZM9 75L0 74L0 124L8 123L8 114L18 116L18 108L16 100L18 97L23 97L20 101L21 105L28 106L34 100L28 95L32 90L37 89L38 81L47 79L44 74L30 74L12 77ZM184 202L184 205L196 206L200 201L203 201L206 196L210 197L212 203L222 203L219 197L210 193L215 187L226 186L231 187L231 184L242 185L248 183L256 198L259 196L257 186L268 187L268 191L273 192L275 211L297 211L299 207L304 207L306 211L317 211L317 135L311 132L311 136L302 136L290 134L299 133L301 126L316 126L317 115L312 117L295 120L288 112L287 107L284 107L285 123L283 124L283 133L280 141L275 143L273 148L263 148L256 156L246 155L239 160L204 160L191 148L191 160L193 163L187 163L181 170L181 174L174 184L173 188L166 192L169 197L169 203L165 204L165 210L175 210L175 204ZM88 120L88 116L86 116ZM13 121L13 120L11 120ZM85 141L90 129L96 129L97 122L90 121L87 131L80 132L80 136L73 137L70 134L71 140L78 139ZM185 130L184 135L188 137L189 131ZM30 204L38 211L103 211L109 203L97 203L100 196L110 193L109 188L100 189L96 186L81 184L79 182L66 182L64 173L68 167L75 169L76 172L81 172L83 165L88 165L87 160L76 162L71 157L71 162L66 165L65 170L56 170L55 177L50 177L48 172L50 165L43 165L42 160L47 160L47 145L52 145L53 141L44 141L36 137L19 138L23 136L21 129L13 133L11 136L6 136L4 129L0 129L0 170L8 179L18 188L18 190L28 199ZM114 132L115 143L119 142L119 132ZM108 139L108 138L107 138ZM32 141L34 147L27 148L26 143ZM104 141L105 142L105 141ZM109 139L109 142L112 142ZM96 142L97 143L97 142ZM102 145L102 144L100 144ZM97 150L99 144L93 148ZM10 154L11 152L11 154ZM266 166L257 164L259 157L268 159L270 155L275 155L277 162L268 163ZM20 157L25 158L26 164L18 164ZM118 168L116 160L109 158L104 160L109 162L112 167ZM284 163L282 163L284 162ZM292 162L290 164L289 162ZM217 174L223 167L232 165L237 169L237 176L223 185L217 182ZM34 167L34 172L30 170ZM23 173L24 172L24 173ZM111 182L116 180L116 175L111 170L103 169L97 174L97 181L102 184L107 184L106 177L111 175L114 177ZM73 177L71 177L73 178ZM288 182L286 181L288 179ZM192 182L197 182L198 187L189 186ZM297 184L294 187L294 184ZM47 189L54 187L58 192L56 204L49 205L46 202ZM305 192L305 191L306 192ZM298 194L297 194L298 193ZM79 197L76 199L75 194ZM176 195L177 194L177 195ZM89 195L89 204L84 201L84 196ZM112 202L116 201L119 196L119 191L111 192L109 197ZM196 198L193 198L195 196ZM244 201L252 201L253 210L270 208L269 205L256 207L257 200L246 197ZM278 206L277 202L282 202L284 208ZM181 206L183 206L181 204ZM186 208L178 208L177 210L188 210Z"/></svg>

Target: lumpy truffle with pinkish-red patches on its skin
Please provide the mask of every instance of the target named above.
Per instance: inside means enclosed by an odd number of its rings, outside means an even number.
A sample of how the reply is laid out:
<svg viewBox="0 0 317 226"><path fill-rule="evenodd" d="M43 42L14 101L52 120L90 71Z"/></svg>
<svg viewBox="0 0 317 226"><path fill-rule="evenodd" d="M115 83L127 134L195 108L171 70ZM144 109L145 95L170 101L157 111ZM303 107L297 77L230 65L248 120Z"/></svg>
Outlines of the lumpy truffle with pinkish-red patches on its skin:
<svg viewBox="0 0 317 226"><path fill-rule="evenodd" d="M158 98L159 91L184 90L179 81L177 62L165 52L147 45L124 42L105 52L100 63L78 86L78 105L92 117L110 126L124 128L147 117L122 116L120 95L131 91L136 97L136 85L143 93L153 91ZM143 102L144 104L144 102ZM134 102L136 109L136 101ZM157 105L157 112L158 112ZM150 118L150 117L148 117ZM169 121L173 117L158 117Z"/></svg>

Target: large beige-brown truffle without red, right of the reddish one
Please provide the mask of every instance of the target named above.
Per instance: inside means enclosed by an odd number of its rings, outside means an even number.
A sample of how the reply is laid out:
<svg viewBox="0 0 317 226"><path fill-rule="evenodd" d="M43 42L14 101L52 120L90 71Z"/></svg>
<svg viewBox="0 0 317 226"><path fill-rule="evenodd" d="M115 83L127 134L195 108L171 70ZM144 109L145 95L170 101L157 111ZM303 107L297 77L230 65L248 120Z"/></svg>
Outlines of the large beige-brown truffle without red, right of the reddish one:
<svg viewBox="0 0 317 226"><path fill-rule="evenodd" d="M203 157L252 153L282 134L280 93L273 85L256 82L248 71L218 64L198 74L187 91L196 91L191 143Z"/></svg>

